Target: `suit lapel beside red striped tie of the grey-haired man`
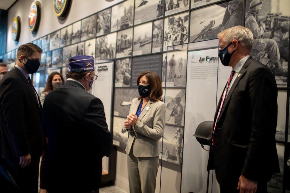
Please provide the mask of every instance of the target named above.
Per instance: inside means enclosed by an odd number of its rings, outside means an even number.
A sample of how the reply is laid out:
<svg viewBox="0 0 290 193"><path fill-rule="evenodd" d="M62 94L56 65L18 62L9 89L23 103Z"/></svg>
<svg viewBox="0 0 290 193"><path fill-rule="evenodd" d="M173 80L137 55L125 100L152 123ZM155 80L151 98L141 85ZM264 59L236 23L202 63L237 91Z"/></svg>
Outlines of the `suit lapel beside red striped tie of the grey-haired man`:
<svg viewBox="0 0 290 193"><path fill-rule="evenodd" d="M225 109L226 109L226 107L227 107L227 104L229 103L230 98L231 98L231 96L232 96L234 90L236 89L238 83L239 83L240 80L243 78L243 76L246 74L246 71L247 71L246 68L248 67L248 65L250 64L250 62L252 62L252 60L253 60L253 59L252 59L251 57L247 59L247 61L245 62L245 64L244 64L243 67L241 68L240 72L238 73L238 74L240 74L240 75L237 76L236 80L233 82L233 84L232 84L230 90L228 91L228 93L227 93L227 95L226 95L226 99L225 99L225 101L224 101L223 108L221 109L221 114L220 114L220 116L219 116L219 117L220 117L219 120L221 119L221 116L222 116L223 112L225 111ZM220 108L220 104L221 104L221 103L219 102L219 106L218 106L218 108ZM216 117L216 116L215 116L215 117ZM218 121L219 121L219 120L218 120Z"/></svg>

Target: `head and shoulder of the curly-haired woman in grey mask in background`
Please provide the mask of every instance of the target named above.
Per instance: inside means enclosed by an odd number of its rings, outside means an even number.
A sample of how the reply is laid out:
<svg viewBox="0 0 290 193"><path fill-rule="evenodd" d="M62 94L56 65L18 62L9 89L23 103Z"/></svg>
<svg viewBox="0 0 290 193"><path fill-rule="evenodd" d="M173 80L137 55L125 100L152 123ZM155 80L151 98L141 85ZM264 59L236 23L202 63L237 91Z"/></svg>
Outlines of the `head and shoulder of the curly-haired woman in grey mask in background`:
<svg viewBox="0 0 290 193"><path fill-rule="evenodd" d="M60 74L59 72L51 73L49 77L47 78L46 87L39 97L41 105L43 105L44 99L50 91L61 87L63 84L64 84L64 79L63 79L62 74Z"/></svg>

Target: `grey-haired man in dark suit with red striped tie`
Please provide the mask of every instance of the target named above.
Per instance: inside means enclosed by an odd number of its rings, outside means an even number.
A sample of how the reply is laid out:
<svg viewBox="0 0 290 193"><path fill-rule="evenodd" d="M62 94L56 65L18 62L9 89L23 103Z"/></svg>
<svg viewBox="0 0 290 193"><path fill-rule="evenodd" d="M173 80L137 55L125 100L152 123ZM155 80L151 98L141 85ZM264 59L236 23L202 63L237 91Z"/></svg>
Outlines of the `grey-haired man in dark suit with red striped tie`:
<svg viewBox="0 0 290 193"><path fill-rule="evenodd" d="M233 71L214 116L208 170L215 169L221 193L265 193L267 181L280 172L275 77L250 56L248 28L232 27L218 36L221 62Z"/></svg>

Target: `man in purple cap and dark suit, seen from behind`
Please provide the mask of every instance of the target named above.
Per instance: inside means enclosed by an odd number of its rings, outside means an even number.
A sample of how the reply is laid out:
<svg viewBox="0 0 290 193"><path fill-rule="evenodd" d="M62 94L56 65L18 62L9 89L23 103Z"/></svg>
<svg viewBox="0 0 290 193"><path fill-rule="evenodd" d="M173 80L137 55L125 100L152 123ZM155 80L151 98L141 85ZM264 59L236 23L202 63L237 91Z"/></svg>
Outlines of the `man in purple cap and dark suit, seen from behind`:
<svg viewBox="0 0 290 193"><path fill-rule="evenodd" d="M69 59L66 83L43 103L43 129L48 138L44 183L50 192L98 192L102 158L109 157L112 134L104 106L87 91L95 75L94 58Z"/></svg>

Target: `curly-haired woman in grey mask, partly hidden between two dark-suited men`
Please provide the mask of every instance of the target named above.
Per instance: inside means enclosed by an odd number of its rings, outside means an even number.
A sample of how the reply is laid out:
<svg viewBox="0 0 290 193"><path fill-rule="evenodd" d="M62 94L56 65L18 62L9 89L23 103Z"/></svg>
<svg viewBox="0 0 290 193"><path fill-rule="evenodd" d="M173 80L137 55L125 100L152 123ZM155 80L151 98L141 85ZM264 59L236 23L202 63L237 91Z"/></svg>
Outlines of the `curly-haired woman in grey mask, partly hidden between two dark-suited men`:
<svg viewBox="0 0 290 193"><path fill-rule="evenodd" d="M52 72L47 78L45 89L40 94L39 100L40 100L41 105L43 106L44 99L50 91L61 87L63 84L64 84L63 75L60 74L59 72ZM48 143L47 139L46 139L46 143ZM47 159L47 150L43 151L41 164L40 164L40 193L47 192L45 185L43 184L43 168L46 163L46 159Z"/></svg>

